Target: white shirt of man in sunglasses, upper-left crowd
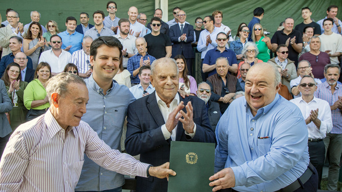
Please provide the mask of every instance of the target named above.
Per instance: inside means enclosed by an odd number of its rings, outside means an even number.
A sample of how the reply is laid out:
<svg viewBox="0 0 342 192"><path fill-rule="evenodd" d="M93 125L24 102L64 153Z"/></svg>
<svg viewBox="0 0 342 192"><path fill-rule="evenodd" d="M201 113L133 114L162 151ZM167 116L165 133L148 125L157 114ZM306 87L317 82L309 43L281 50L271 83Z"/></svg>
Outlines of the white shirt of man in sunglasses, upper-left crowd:
<svg viewBox="0 0 342 192"><path fill-rule="evenodd" d="M57 57L52 49L42 52L39 58L40 62L47 62L51 66L52 73L60 73L64 71L66 64L70 62L71 53L61 49L62 52Z"/></svg>

